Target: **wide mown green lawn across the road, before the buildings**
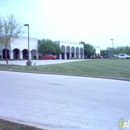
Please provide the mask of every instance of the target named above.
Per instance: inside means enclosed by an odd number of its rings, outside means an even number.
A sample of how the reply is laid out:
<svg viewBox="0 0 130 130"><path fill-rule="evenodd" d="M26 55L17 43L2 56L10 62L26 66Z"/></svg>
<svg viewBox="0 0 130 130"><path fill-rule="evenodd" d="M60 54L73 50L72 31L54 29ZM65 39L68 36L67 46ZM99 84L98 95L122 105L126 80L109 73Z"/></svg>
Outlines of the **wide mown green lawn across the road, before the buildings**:
<svg viewBox="0 0 130 130"><path fill-rule="evenodd" d="M120 59L84 60L78 62L39 66L0 65L0 70L9 69L12 69L12 71L36 73L105 76L130 79L130 60Z"/></svg>

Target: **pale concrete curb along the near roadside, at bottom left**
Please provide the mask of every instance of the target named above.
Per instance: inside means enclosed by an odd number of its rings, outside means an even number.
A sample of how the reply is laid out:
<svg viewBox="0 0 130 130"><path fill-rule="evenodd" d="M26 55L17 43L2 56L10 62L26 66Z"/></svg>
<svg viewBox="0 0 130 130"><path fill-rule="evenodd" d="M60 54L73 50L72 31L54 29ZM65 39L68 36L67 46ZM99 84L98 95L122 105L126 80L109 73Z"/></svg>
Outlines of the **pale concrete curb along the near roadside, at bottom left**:
<svg viewBox="0 0 130 130"><path fill-rule="evenodd" d="M0 119L3 120L3 121L9 121L11 123L21 124L21 125L25 125L25 126L29 126L29 127L34 127L34 128L37 128L37 129L54 130L54 129L47 128L47 127L42 126L42 125L37 125L37 124L32 124L32 123L26 123L26 122L23 122L23 121L13 120L13 119L9 119L9 118L0 117Z"/></svg>

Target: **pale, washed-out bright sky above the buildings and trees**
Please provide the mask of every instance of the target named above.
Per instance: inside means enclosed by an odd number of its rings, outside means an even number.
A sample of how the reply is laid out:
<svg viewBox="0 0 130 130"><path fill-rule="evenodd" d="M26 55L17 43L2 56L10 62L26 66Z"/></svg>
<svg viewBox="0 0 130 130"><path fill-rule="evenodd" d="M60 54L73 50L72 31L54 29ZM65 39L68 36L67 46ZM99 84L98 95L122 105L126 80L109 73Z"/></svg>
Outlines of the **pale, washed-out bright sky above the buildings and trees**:
<svg viewBox="0 0 130 130"><path fill-rule="evenodd" d="M0 0L0 17L29 24L30 37L101 49L130 46L130 0ZM27 36L27 27L23 26Z"/></svg>

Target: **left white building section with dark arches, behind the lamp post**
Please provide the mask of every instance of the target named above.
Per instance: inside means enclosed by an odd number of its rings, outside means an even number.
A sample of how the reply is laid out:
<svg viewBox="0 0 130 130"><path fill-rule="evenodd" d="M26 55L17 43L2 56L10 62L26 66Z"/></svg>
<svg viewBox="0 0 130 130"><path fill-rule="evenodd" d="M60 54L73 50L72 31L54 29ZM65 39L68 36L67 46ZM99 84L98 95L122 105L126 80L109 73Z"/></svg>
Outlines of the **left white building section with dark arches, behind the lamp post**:
<svg viewBox="0 0 130 130"><path fill-rule="evenodd" d="M5 58L5 46L0 45L0 55ZM9 59L27 59L28 57L28 38L20 37L7 47L7 57ZM38 59L38 39L30 38L30 59Z"/></svg>

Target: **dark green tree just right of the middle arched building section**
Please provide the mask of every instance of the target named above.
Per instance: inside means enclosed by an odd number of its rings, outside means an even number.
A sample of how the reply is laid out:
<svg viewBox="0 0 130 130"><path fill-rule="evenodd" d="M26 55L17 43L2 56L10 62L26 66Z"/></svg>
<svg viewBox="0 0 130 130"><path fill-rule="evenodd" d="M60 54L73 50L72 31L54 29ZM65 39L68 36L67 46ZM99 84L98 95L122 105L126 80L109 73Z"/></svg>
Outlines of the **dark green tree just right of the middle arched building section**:
<svg viewBox="0 0 130 130"><path fill-rule="evenodd" d="M88 58L91 58L91 56L96 54L96 49L92 45L85 42L80 42L80 44L84 45L84 55Z"/></svg>

